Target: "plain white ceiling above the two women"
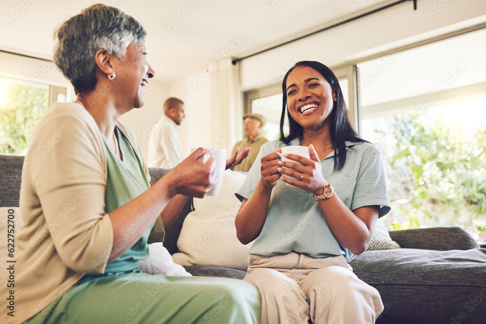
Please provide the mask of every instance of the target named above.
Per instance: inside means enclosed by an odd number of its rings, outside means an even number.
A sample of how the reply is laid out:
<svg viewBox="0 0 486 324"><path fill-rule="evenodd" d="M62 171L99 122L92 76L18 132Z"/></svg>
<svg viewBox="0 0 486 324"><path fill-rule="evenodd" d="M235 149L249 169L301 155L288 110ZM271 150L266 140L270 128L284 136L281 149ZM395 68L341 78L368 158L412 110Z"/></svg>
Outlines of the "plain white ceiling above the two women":
<svg viewBox="0 0 486 324"><path fill-rule="evenodd" d="M51 59L54 29L98 2L139 20L157 79L172 82L200 72L223 53L243 57L383 0L1 0L0 49Z"/></svg>

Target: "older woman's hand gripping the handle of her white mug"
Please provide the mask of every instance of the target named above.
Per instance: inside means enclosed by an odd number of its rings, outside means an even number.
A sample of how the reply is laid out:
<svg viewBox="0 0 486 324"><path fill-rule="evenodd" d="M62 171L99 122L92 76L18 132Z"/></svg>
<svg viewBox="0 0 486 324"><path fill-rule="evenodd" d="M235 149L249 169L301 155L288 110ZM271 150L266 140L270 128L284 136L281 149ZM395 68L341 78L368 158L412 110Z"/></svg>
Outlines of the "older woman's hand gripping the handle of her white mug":
<svg viewBox="0 0 486 324"><path fill-rule="evenodd" d="M209 150L198 148L185 160L174 167L166 176L171 178L171 189L175 193L203 198L216 184L216 161L203 156Z"/></svg>

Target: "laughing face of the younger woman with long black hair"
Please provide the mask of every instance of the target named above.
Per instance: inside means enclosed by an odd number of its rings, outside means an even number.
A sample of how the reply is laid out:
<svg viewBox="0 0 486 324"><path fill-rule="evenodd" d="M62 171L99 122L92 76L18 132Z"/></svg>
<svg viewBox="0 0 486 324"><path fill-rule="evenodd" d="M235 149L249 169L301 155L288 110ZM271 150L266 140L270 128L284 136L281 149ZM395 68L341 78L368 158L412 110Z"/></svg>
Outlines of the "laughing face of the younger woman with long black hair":
<svg viewBox="0 0 486 324"><path fill-rule="evenodd" d="M286 82L287 108L292 118L306 129L320 129L328 122L335 95L331 85L316 70L297 67Z"/></svg>

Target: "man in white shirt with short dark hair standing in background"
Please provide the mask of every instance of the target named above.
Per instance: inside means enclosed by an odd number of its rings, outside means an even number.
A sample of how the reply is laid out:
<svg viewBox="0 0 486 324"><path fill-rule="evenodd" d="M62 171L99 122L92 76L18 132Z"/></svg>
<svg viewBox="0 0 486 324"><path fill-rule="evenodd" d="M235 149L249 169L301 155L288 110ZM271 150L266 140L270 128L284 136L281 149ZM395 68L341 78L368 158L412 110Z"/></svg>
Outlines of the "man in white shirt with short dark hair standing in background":
<svg viewBox="0 0 486 324"><path fill-rule="evenodd" d="M184 102L169 98L164 102L164 115L150 133L147 165L154 168L174 168L183 160L182 144L176 125L184 115Z"/></svg>

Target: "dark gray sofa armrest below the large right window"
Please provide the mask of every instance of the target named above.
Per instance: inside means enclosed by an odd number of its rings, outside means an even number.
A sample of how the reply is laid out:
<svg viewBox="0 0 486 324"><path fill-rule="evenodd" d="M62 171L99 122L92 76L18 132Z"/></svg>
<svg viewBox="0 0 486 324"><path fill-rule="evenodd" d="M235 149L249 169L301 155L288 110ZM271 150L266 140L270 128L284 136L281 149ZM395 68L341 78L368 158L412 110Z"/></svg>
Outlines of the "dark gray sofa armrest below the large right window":
<svg viewBox="0 0 486 324"><path fill-rule="evenodd" d="M389 233L401 248L437 251L479 248L469 233L459 227L411 228Z"/></svg>

